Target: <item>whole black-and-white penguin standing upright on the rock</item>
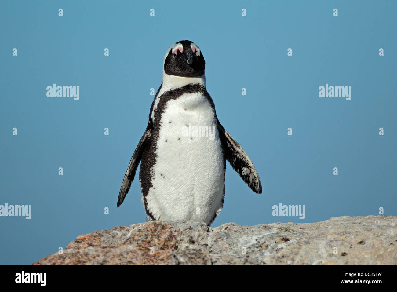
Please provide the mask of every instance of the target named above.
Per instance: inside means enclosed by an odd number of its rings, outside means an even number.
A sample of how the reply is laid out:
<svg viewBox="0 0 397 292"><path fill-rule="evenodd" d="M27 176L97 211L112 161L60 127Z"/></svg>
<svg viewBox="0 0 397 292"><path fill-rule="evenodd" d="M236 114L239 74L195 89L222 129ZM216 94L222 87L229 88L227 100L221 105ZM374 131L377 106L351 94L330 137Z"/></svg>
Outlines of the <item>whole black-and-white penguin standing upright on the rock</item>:
<svg viewBox="0 0 397 292"><path fill-rule="evenodd" d="M146 220L205 222L224 205L226 160L255 193L260 178L247 153L219 122L205 85L205 60L197 44L173 44L163 61L162 83L148 125L119 191L123 203L139 162Z"/></svg>

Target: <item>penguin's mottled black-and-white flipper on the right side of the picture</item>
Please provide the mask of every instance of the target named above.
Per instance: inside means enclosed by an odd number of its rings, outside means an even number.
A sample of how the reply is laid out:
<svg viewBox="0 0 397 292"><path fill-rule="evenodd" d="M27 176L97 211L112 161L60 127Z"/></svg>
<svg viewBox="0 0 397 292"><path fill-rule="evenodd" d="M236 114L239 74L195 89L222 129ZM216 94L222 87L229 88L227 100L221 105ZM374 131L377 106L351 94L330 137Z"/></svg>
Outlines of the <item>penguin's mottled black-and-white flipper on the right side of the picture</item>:
<svg viewBox="0 0 397 292"><path fill-rule="evenodd" d="M224 127L217 120L217 128L219 137L224 150L225 159L229 161L231 167L241 176L243 181L255 193L262 193L262 184L254 164L249 159L244 149L237 143L237 141L225 130ZM245 170L243 170L245 168ZM243 174L245 172L245 174Z"/></svg>

